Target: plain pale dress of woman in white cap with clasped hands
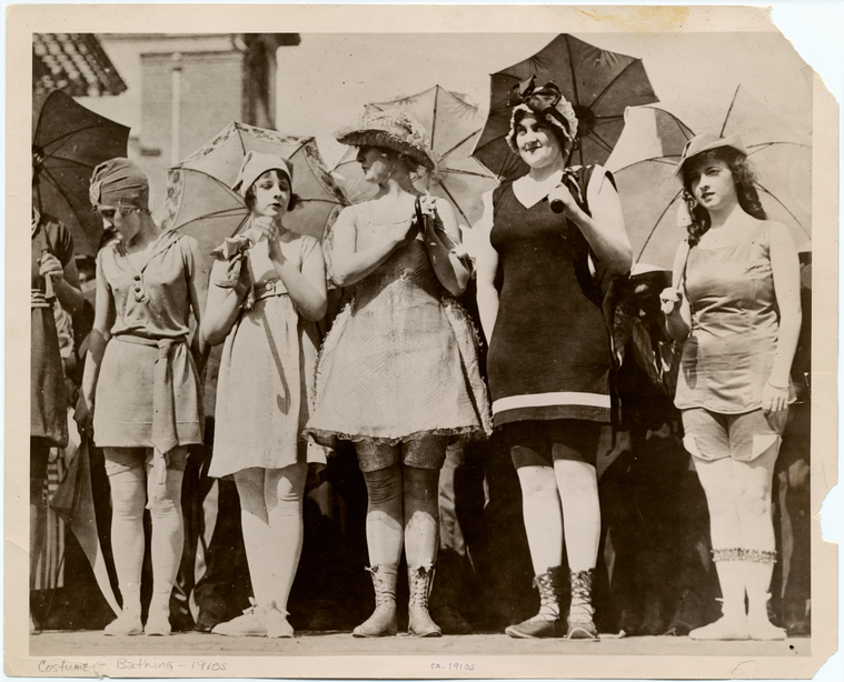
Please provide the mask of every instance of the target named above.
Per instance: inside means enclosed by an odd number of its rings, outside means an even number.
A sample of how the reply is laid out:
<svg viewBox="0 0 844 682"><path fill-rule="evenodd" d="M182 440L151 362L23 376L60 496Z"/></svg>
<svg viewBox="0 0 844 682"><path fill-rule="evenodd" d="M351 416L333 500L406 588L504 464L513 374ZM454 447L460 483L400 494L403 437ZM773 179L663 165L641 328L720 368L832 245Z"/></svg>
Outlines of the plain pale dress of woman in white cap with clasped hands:
<svg viewBox="0 0 844 682"><path fill-rule="evenodd" d="M299 270L321 258L312 237L286 232L285 257ZM310 415L317 364L316 322L299 315L269 259L266 240L248 251L256 302L241 311L226 337L217 378L214 457L209 475L249 468L282 469L297 462L325 463L319 448L301 434ZM211 287L225 270L215 264Z"/></svg>

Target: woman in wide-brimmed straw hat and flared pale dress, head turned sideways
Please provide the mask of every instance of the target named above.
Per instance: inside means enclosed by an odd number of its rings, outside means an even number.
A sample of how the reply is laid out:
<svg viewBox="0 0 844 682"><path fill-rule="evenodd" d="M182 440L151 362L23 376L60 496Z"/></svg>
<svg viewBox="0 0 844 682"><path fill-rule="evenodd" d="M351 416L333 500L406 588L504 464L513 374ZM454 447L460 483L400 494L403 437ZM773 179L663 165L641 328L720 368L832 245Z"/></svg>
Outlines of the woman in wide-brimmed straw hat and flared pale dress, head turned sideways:
<svg viewBox="0 0 844 682"><path fill-rule="evenodd" d="M396 110L336 133L359 149L375 199L344 209L329 274L354 287L326 338L307 431L355 443L366 480L376 609L354 635L396 634L404 548L408 631L438 636L427 606L438 548L438 479L453 437L489 430L477 339L456 303L469 279L451 205L414 187L435 159L418 121Z"/></svg>

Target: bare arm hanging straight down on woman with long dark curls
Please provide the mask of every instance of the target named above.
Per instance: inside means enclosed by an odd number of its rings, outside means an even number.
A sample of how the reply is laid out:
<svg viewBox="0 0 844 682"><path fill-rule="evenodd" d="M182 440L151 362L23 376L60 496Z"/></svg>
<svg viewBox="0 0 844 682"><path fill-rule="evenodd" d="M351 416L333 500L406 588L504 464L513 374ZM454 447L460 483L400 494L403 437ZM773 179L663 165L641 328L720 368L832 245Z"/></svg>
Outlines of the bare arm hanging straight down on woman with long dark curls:
<svg viewBox="0 0 844 682"><path fill-rule="evenodd" d="M788 375L797 350L802 320L800 260L788 229L782 223L774 223L771 229L771 269L780 309L780 334L774 367L762 392L762 407L766 411L777 411L785 408L788 399Z"/></svg>

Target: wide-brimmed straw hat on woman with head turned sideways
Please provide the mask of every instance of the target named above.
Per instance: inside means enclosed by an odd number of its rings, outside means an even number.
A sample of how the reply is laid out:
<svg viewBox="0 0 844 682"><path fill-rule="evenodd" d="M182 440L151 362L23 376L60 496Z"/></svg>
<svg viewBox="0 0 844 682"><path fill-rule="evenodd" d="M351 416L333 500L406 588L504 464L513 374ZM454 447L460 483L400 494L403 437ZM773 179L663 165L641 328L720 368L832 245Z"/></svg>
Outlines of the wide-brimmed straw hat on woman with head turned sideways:
<svg viewBox="0 0 844 682"><path fill-rule="evenodd" d="M341 128L334 137L349 147L383 147L413 159L434 170L436 160L421 123L396 109L365 114L357 126Z"/></svg>

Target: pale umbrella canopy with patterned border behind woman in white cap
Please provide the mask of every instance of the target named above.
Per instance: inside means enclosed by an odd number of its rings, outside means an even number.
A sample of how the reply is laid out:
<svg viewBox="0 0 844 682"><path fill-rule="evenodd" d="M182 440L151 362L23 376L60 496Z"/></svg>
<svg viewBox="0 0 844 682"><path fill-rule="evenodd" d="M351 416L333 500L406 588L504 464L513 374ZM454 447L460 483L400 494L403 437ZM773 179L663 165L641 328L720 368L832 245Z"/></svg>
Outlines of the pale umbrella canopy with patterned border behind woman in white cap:
<svg viewBox="0 0 844 682"><path fill-rule="evenodd" d="M162 227L192 234L205 254L226 237L236 234L249 212L240 195L229 188L248 151L291 161L294 192L300 204L285 217L285 225L321 240L348 201L322 163L314 138L285 136L234 121L176 168L168 169ZM210 264L208 257L202 268L209 270Z"/></svg>

